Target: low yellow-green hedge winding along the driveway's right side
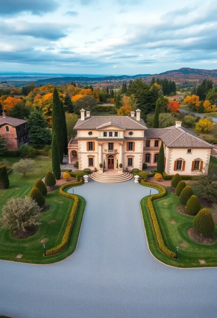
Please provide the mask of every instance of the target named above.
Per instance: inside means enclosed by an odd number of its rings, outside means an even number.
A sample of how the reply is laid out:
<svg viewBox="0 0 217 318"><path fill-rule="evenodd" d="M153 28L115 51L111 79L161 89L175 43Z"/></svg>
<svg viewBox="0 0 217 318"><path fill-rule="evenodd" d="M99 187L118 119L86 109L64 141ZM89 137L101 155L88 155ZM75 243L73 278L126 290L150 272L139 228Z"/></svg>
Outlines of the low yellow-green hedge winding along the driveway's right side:
<svg viewBox="0 0 217 318"><path fill-rule="evenodd" d="M161 230L160 230L159 224L157 222L157 217L156 217L156 214L155 214L155 210L154 210L153 204L151 202L153 200L163 198L165 196L165 194L166 194L166 189L162 185L156 184L156 183L144 182L143 180L141 180L141 183L143 185L155 187L155 188L158 188L158 189L162 190L161 193L154 194L154 195L150 196L148 198L148 200L147 200L147 205L148 205L148 208L149 208L149 211L150 211L150 215L151 215L152 223L153 223L153 226L154 226L157 242L158 242L158 245L159 245L161 251L164 252L169 257L175 258L176 257L176 253L170 251L164 244L164 241L163 241L163 238L162 238L162 234L161 234Z"/></svg>

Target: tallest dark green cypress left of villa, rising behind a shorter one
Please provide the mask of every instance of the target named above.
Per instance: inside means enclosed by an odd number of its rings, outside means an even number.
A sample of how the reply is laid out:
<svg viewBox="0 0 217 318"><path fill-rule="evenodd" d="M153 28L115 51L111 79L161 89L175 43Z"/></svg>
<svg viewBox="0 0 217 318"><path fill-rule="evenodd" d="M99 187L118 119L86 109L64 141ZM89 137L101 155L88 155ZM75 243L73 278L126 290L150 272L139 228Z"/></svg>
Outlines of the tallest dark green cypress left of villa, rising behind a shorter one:
<svg viewBox="0 0 217 318"><path fill-rule="evenodd" d="M57 92L56 87L54 87L53 93L53 112L52 112L52 128L53 133L55 133L55 139L57 143L57 153L59 153L59 162L62 163L64 146L65 146L65 130L64 126L64 118L62 113L62 104Z"/></svg>

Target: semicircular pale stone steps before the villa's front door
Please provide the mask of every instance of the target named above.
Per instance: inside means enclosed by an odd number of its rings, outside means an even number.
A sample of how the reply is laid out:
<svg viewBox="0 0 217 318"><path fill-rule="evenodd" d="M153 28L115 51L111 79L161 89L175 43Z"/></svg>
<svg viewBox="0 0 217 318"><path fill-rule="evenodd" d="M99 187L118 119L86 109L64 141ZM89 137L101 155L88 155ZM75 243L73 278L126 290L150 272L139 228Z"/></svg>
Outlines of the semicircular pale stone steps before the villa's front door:
<svg viewBox="0 0 217 318"><path fill-rule="evenodd" d="M133 175L130 172L123 172L117 175L109 175L105 173L93 172L89 175L89 177L95 181L103 182L103 183L117 183L124 182L132 179Z"/></svg>

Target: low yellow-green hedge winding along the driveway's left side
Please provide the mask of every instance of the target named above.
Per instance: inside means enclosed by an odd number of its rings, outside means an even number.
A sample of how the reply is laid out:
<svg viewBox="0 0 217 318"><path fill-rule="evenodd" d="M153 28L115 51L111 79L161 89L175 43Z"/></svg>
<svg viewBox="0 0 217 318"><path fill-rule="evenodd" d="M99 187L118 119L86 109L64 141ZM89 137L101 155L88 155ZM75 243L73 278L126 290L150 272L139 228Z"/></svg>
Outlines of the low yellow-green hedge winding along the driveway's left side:
<svg viewBox="0 0 217 318"><path fill-rule="evenodd" d="M78 209L78 205L79 205L79 198L76 195L64 192L63 190L65 188L67 188L67 187L80 185L80 184L82 184L82 182L83 182L83 180L81 179L79 182L66 183L66 184L64 184L64 185L62 185L60 187L60 191L59 191L60 195L63 196L63 197L67 197L69 199L73 199L74 200L74 204L73 204L72 211L70 213L70 216L69 216L69 219L68 219L68 223L66 225L66 229L65 229L65 232L63 234L62 241L61 241L60 245L47 250L46 251L47 256L51 256L51 255L54 255L54 254L62 252L66 248L66 246L68 244L68 240L69 240L69 237L70 237L72 225L73 225L73 222L74 222L74 219L75 219L75 215L76 215L76 212L77 212L77 209Z"/></svg>

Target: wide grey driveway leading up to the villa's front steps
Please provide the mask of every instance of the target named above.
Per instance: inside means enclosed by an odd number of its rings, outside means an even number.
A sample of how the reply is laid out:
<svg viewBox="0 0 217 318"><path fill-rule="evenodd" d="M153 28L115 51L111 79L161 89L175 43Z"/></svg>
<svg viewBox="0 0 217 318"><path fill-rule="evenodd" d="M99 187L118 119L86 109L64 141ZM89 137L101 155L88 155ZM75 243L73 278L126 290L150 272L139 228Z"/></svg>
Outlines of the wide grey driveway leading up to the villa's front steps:
<svg viewBox="0 0 217 318"><path fill-rule="evenodd" d="M0 314L216 318L216 269L176 269L150 254L140 211L149 188L90 181L74 190L87 203L77 249L52 265L0 261Z"/></svg>

